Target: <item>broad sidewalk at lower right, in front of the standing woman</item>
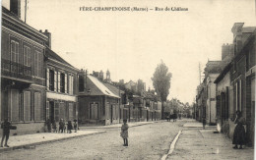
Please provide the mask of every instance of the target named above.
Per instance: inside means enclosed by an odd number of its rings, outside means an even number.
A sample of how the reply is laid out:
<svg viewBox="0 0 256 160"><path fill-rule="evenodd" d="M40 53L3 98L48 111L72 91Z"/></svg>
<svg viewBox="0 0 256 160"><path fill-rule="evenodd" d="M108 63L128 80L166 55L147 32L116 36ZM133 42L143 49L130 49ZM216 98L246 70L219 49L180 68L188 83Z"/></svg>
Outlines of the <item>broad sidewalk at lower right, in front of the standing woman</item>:
<svg viewBox="0 0 256 160"><path fill-rule="evenodd" d="M184 130L170 159L246 159L253 160L254 149L233 149L231 139L216 130Z"/></svg>

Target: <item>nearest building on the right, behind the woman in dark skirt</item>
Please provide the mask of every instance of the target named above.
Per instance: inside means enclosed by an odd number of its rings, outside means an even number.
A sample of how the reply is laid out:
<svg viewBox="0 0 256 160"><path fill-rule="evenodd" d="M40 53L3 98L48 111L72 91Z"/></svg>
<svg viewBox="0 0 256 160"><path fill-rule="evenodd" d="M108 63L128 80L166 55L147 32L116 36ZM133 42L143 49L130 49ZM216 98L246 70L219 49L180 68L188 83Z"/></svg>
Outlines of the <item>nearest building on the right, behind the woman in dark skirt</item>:
<svg viewBox="0 0 256 160"><path fill-rule="evenodd" d="M215 80L219 130L232 137L235 111L239 110L246 120L249 145L253 145L255 128L255 28L234 24L233 58Z"/></svg>

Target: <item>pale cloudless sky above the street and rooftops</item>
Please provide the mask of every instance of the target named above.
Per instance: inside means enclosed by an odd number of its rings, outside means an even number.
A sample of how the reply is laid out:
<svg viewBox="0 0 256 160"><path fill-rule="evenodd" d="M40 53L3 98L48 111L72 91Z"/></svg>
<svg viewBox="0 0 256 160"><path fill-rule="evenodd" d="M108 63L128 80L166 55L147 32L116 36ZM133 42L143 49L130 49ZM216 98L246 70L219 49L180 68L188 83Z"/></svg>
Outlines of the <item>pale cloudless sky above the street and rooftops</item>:
<svg viewBox="0 0 256 160"><path fill-rule="evenodd" d="M27 24L48 29L52 50L89 73L108 69L111 80L151 78L162 60L172 74L168 99L192 103L208 60L221 60L231 27L256 26L254 0L28 0ZM22 0L22 19L24 3ZM3 0L8 6L8 0ZM182 7L187 12L96 12L80 7ZM7 7L8 8L8 7ZM202 71L203 73L203 71Z"/></svg>

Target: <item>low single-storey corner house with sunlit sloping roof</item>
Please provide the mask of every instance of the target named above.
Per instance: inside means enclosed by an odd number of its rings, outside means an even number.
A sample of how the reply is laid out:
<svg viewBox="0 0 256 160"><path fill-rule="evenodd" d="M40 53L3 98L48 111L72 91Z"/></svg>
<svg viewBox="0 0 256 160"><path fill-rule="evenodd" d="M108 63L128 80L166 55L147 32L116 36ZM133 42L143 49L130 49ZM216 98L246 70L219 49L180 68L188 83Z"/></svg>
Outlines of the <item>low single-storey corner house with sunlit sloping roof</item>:
<svg viewBox="0 0 256 160"><path fill-rule="evenodd" d="M79 95L79 123L111 125L119 123L120 96L113 93L97 75L81 72ZM86 81L86 82L85 82ZM81 86L84 85L84 88Z"/></svg>

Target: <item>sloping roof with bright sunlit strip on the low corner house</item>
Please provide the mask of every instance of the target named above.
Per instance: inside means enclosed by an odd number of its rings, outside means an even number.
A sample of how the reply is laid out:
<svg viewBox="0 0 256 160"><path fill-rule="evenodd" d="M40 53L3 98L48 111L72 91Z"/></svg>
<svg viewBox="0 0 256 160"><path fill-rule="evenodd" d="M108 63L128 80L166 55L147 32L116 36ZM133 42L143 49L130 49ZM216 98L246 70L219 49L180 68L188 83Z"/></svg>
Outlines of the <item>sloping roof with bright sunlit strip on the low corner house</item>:
<svg viewBox="0 0 256 160"><path fill-rule="evenodd" d="M100 80L96 77L88 76L88 87L91 89L90 95L107 95L116 98L120 98L118 95L114 94L110 89L106 87Z"/></svg>

